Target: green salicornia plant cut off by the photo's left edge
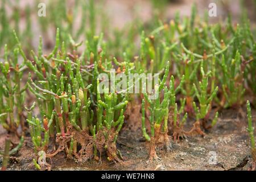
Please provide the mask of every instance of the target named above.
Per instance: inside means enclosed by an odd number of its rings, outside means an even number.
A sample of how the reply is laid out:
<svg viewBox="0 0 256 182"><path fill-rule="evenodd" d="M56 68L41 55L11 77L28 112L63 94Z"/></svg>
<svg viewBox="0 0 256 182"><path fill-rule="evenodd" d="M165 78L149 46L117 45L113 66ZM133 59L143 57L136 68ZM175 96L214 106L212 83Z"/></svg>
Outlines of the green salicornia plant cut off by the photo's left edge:
<svg viewBox="0 0 256 182"><path fill-rule="evenodd" d="M9 59L7 45L5 45L5 62L0 62L0 123L7 130L20 136L17 129L22 127L22 131L26 130L24 126L23 102L24 91L26 86L22 88L20 81L22 79L24 65L18 64L18 49L14 49L14 57ZM18 111L18 114L16 113ZM24 133L22 133L24 134Z"/></svg>

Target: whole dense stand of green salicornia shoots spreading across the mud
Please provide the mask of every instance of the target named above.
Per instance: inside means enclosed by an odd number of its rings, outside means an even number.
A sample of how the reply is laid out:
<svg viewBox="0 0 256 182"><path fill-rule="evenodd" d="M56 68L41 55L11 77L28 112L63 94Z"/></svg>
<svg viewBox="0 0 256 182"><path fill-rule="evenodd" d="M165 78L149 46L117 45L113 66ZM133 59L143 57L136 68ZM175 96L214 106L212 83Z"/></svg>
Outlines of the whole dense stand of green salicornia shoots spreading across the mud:
<svg viewBox="0 0 256 182"><path fill-rule="evenodd" d="M121 162L117 137L125 122L126 105L135 98L141 100L142 134L150 142L150 159L158 159L156 145L170 149L169 134L175 141L205 135L205 130L216 125L218 111L240 109L245 94L256 104L256 42L246 17L236 26L230 16L225 24L210 24L207 16L204 20L197 16L193 6L191 18L182 19L177 13L170 22L155 20L148 27L134 20L128 28L113 31L112 38L106 24L97 33L93 1L76 1L69 10L63 1L57 5L59 9L50 11L51 19L40 18L44 32L50 26L57 30L55 46L47 55L43 44L48 40L43 42L40 37L38 50L28 52L23 46L27 35L16 28L11 32L10 27L1 32L1 38L14 41L5 46L0 64L0 123L18 137L30 133L38 169L49 169L47 159L59 152L79 162L101 161L102 153L110 161ZM75 31L74 18L80 7L84 20ZM7 17L1 14L1 19L5 27ZM81 37L85 43L79 42ZM6 43L0 40L0 46ZM100 88L105 81L101 73L110 77L159 73L159 84L153 86L159 97ZM188 117L194 123L185 131Z"/></svg>

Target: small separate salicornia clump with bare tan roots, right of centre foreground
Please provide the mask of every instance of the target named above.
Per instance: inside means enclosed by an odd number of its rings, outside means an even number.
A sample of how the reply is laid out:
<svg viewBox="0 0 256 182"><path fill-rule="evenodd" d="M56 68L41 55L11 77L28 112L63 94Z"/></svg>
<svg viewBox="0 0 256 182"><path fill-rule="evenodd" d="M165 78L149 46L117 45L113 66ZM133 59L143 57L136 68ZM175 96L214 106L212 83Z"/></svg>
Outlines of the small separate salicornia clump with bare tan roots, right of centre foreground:
<svg viewBox="0 0 256 182"><path fill-rule="evenodd" d="M144 138L150 142L150 154L149 158L158 159L156 155L156 144L164 144L167 149L170 149L170 139L168 136L168 114L169 114L169 105L170 105L170 96L171 90L167 89L166 79L169 73L169 62L167 62L167 67L163 76L162 81L160 81L159 85L156 84L154 86L154 94L155 98L151 98L150 94L144 94L145 100L142 100L142 133ZM162 102L160 101L160 93L164 91L164 98ZM157 93L157 94L156 94ZM147 106L147 107L146 107ZM147 134L146 126L145 126L145 110L148 109L150 111L150 135Z"/></svg>

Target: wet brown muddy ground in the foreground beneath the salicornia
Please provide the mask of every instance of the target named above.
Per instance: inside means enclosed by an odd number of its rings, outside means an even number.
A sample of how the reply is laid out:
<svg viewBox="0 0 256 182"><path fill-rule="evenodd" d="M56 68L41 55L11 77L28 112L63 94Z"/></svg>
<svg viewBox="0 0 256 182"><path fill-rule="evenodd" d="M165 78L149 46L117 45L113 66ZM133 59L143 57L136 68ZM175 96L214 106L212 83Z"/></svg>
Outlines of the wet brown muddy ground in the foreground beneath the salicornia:
<svg viewBox="0 0 256 182"><path fill-rule="evenodd" d="M76 160L67 160L64 152L61 152L52 160L48 160L48 163L52 164L52 170L247 170L250 167L247 118L241 118L238 112L232 109L220 113L217 125L207 131L204 138L196 136L172 142L171 151L158 148L160 162L148 161L147 143L140 129L140 107L138 105L134 108L134 116L137 117L128 118L118 137L117 148L124 158L122 163L110 163L103 155L102 164L95 160L78 164ZM243 110L245 111L245 108ZM130 119L134 118L138 119L135 119L135 125L131 125ZM256 111L253 110L253 121L255 118ZM189 130L193 123L193 119L189 120L191 121L187 123L186 130ZM3 148L6 134L1 133L0 148ZM14 141L18 142L18 139ZM34 158L32 143L27 137L23 147L11 158L8 170L34 170ZM212 162L210 159L213 159Z"/></svg>

